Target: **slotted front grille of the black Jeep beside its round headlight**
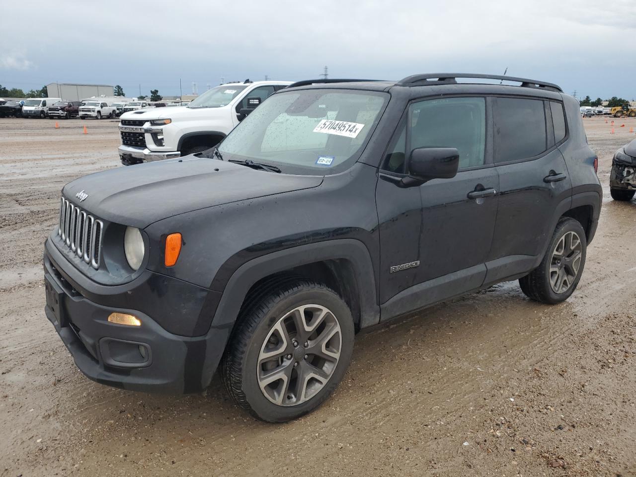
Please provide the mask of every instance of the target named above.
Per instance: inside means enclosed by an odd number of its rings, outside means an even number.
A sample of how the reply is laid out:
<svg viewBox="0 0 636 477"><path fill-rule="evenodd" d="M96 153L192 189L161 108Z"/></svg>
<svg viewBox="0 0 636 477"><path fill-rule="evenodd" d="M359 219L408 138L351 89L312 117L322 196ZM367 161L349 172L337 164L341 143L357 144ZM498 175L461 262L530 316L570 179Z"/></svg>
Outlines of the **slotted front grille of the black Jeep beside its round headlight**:
<svg viewBox="0 0 636 477"><path fill-rule="evenodd" d="M103 231L102 221L62 197L57 233L72 252L93 268L99 268Z"/></svg>

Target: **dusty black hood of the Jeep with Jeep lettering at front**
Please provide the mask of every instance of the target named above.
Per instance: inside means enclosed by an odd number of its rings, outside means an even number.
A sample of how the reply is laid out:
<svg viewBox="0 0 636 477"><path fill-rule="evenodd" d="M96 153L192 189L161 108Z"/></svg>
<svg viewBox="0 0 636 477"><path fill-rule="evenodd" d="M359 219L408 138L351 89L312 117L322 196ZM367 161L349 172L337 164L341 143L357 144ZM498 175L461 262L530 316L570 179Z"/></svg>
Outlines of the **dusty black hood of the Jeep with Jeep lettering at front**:
<svg viewBox="0 0 636 477"><path fill-rule="evenodd" d="M185 156L97 172L64 186L64 197L95 216L145 228L184 212L317 187L322 176L291 176ZM87 195L79 202L76 195Z"/></svg>

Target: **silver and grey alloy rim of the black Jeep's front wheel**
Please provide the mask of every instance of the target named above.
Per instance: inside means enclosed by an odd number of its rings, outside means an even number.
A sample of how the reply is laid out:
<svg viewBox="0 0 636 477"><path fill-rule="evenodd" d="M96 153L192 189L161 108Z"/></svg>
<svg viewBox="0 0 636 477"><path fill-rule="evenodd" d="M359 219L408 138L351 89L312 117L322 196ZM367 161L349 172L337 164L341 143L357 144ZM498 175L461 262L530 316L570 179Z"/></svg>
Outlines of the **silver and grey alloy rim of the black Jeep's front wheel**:
<svg viewBox="0 0 636 477"><path fill-rule="evenodd" d="M258 385L279 406L311 399L329 382L342 349L336 316L321 305L296 307L270 329L258 356Z"/></svg>

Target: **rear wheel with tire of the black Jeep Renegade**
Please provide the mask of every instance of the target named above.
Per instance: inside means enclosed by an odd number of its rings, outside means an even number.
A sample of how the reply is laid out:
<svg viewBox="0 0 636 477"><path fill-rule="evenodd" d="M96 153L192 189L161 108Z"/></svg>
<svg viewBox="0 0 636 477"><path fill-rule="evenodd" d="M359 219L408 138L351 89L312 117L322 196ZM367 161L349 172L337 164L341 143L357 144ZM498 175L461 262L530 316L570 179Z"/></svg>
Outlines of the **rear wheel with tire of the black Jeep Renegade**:
<svg viewBox="0 0 636 477"><path fill-rule="evenodd" d="M581 280L586 250L581 224L567 217L560 219L541 265L519 279L523 293L542 303L567 300Z"/></svg>

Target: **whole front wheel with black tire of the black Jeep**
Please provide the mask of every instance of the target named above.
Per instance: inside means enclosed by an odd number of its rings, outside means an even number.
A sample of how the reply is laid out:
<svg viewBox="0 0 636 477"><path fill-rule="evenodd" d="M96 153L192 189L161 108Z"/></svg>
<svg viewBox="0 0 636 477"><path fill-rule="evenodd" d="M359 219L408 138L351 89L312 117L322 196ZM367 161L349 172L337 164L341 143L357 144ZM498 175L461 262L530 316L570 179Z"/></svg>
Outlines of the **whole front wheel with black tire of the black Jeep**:
<svg viewBox="0 0 636 477"><path fill-rule="evenodd" d="M314 410L349 366L354 326L347 304L328 287L278 279L244 305L221 377L254 417L286 422Z"/></svg>

